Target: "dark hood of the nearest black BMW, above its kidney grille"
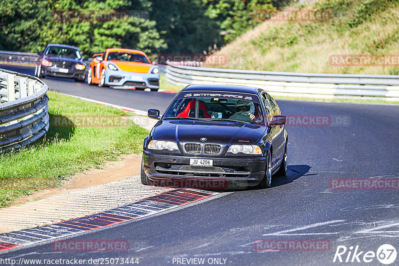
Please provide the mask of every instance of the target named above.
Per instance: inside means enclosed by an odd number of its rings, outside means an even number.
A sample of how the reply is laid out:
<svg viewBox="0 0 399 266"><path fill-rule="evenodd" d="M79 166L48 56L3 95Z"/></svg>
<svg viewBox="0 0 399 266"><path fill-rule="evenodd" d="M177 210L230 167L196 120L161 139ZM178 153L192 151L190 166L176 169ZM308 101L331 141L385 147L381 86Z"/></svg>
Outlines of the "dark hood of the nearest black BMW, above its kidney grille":
<svg viewBox="0 0 399 266"><path fill-rule="evenodd" d="M265 126L245 123L163 120L154 127L153 138L185 143L201 142L205 137L205 143L256 144L266 130Z"/></svg>

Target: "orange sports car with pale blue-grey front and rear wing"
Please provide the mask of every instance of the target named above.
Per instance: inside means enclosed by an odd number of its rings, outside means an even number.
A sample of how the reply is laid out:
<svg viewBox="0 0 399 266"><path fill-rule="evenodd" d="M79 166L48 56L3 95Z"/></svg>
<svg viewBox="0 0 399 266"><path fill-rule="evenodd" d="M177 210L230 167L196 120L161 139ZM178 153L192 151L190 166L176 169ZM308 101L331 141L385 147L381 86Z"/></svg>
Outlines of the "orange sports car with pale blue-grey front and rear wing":
<svg viewBox="0 0 399 266"><path fill-rule="evenodd" d="M159 89L159 68L142 51L109 48L93 57L87 75L89 85Z"/></svg>

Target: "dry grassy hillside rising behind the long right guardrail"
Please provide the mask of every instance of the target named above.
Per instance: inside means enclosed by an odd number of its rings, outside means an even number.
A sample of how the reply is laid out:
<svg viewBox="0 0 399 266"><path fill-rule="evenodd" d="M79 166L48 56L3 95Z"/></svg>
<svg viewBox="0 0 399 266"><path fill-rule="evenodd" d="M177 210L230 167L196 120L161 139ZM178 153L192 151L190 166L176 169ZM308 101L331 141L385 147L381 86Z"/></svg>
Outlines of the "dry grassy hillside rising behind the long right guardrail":
<svg viewBox="0 0 399 266"><path fill-rule="evenodd" d="M227 64L215 67L305 73L399 74L398 66L333 66L329 60L331 55L397 55L398 0L324 0L288 8L294 7L326 10L331 12L331 18L327 21L265 21L217 51L217 54L227 55Z"/></svg>

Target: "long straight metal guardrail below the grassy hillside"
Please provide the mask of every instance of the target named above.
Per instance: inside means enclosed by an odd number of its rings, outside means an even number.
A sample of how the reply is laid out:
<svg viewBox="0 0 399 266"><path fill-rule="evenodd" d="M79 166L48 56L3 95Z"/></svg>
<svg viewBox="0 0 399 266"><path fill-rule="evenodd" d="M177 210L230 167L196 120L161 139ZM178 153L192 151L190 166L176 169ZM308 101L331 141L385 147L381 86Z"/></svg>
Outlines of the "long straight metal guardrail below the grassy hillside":
<svg viewBox="0 0 399 266"><path fill-rule="evenodd" d="M229 84L264 88L273 96L399 101L399 76L313 74L173 66L166 79L177 85Z"/></svg>

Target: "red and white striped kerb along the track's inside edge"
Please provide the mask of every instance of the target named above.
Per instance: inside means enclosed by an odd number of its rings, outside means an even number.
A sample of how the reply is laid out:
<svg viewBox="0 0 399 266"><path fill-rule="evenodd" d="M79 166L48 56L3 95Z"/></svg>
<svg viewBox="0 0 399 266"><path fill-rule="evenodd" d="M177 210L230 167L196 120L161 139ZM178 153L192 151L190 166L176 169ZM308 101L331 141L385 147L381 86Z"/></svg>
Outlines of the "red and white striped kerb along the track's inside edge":
<svg viewBox="0 0 399 266"><path fill-rule="evenodd" d="M92 215L51 225L3 233L0 234L0 252L121 224L178 208L217 194L219 193L198 189L175 189Z"/></svg>

